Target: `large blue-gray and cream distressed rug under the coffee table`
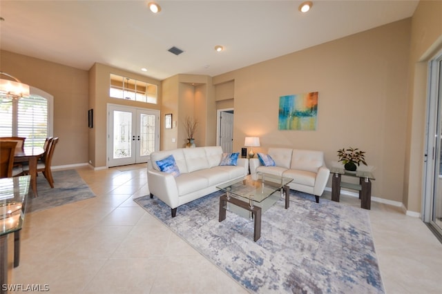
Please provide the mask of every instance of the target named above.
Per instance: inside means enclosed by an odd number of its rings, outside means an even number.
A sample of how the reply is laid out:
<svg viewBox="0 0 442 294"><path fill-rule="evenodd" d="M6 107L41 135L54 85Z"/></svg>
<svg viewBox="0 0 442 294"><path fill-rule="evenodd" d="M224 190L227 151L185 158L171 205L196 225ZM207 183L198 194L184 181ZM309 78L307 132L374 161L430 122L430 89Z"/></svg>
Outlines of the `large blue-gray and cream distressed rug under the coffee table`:
<svg viewBox="0 0 442 294"><path fill-rule="evenodd" d="M255 293L385 293L366 210L291 190L253 222L227 212L218 222L220 192L177 208L135 199L193 248Z"/></svg>

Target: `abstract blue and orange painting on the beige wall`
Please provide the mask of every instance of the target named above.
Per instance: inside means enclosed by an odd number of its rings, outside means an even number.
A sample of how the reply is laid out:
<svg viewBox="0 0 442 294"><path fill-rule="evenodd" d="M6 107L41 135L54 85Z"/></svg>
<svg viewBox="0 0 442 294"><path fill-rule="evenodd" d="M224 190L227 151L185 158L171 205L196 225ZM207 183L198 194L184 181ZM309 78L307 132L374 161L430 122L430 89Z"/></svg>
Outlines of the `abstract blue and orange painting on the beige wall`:
<svg viewBox="0 0 442 294"><path fill-rule="evenodd" d="M318 92L279 97L278 130L316 130Z"/></svg>

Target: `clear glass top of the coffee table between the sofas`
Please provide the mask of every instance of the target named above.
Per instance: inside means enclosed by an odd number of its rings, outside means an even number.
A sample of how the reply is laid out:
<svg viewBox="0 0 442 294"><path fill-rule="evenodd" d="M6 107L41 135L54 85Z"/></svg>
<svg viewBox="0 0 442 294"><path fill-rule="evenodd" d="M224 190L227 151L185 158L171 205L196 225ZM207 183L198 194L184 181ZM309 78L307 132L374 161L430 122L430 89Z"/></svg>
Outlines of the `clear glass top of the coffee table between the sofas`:
<svg viewBox="0 0 442 294"><path fill-rule="evenodd" d="M262 202L291 181L293 181L293 179L289 177L280 177L278 175L270 175L267 173L256 173L253 175L247 175L242 179L236 179L218 185L216 188L233 196L236 195L255 202Z"/></svg>

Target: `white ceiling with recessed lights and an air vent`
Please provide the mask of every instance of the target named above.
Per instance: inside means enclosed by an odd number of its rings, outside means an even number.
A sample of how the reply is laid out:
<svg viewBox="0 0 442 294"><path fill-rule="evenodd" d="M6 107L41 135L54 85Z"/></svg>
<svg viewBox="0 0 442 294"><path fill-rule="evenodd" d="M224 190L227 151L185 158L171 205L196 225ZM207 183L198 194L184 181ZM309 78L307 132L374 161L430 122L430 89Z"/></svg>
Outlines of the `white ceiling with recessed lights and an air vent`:
<svg viewBox="0 0 442 294"><path fill-rule="evenodd" d="M307 14L302 1L157 0L159 14L148 2L1 0L0 48L83 70L214 76L411 17L419 1L322 0Z"/></svg>

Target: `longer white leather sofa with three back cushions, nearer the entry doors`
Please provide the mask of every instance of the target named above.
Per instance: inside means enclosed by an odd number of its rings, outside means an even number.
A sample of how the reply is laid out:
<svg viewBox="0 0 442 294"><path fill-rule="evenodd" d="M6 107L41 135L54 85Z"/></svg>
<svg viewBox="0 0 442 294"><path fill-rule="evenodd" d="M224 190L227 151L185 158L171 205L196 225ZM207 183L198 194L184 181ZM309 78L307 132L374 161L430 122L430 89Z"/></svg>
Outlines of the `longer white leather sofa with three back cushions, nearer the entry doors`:
<svg viewBox="0 0 442 294"><path fill-rule="evenodd" d="M160 171L156 161L173 155L180 175ZM216 186L240 179L249 173L249 159L238 158L236 166L220 166L222 148L207 146L179 148L151 153L147 180L151 198L155 195L171 207L175 217L177 207L218 190Z"/></svg>

